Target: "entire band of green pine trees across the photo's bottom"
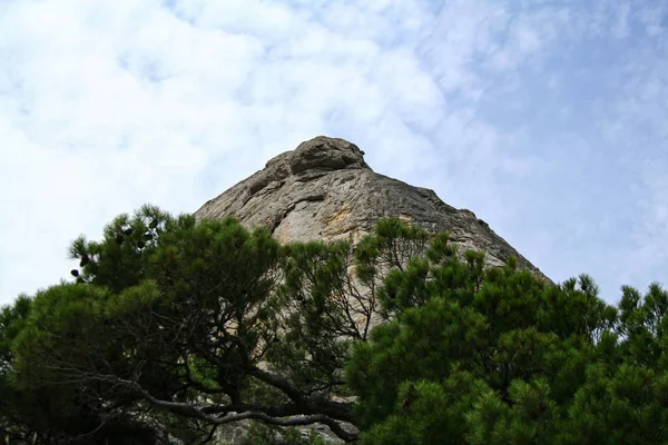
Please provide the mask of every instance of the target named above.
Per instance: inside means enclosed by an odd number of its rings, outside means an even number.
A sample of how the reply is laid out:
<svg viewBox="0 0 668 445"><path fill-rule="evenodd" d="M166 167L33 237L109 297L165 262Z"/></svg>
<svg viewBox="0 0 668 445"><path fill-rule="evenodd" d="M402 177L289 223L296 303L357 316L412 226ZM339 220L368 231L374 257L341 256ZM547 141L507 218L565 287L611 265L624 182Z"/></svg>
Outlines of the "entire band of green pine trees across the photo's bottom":
<svg viewBox="0 0 668 445"><path fill-rule="evenodd" d="M282 246L148 205L69 254L0 312L0 443L668 442L658 284L609 305L399 219Z"/></svg>

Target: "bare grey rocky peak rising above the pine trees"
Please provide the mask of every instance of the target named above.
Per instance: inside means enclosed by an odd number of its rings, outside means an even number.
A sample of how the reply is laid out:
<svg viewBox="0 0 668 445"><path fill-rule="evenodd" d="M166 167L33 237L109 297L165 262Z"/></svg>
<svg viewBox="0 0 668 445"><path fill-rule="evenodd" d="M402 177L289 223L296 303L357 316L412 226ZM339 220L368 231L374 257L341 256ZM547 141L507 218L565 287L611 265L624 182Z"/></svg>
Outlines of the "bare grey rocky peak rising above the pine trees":
<svg viewBox="0 0 668 445"><path fill-rule="evenodd" d="M276 156L195 216L234 216L249 228L266 226L281 243L355 243L380 218L399 217L431 231L449 231L460 251L483 250L490 266L514 255L519 267L543 276L472 211L446 205L433 190L374 172L355 145L324 136Z"/></svg>

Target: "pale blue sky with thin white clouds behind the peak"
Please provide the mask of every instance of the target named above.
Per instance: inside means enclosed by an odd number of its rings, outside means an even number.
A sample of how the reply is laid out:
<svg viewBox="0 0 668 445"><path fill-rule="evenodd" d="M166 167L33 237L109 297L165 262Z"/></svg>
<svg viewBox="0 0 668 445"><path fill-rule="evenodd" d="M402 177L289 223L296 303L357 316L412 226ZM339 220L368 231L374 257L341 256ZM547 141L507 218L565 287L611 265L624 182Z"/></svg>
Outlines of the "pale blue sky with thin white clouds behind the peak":
<svg viewBox="0 0 668 445"><path fill-rule="evenodd" d="M0 304L325 135L556 281L668 285L668 2L2 0Z"/></svg>

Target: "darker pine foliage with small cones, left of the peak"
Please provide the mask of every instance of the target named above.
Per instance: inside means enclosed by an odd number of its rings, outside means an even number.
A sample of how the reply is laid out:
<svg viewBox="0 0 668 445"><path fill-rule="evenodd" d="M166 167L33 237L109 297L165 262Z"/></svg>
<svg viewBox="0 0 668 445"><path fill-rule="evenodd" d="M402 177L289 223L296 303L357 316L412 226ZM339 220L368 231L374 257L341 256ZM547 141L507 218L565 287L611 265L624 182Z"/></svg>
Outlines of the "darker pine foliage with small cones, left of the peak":
<svg viewBox="0 0 668 445"><path fill-rule="evenodd" d="M81 260L76 284L19 299L1 317L3 382L41 400L43 419L29 416L40 425L28 427L38 442L108 441L100 424L136 418L148 399L186 404L154 418L191 417L187 404L203 395L239 403L255 352L275 336L268 296L281 248L266 231L145 206L70 254Z"/></svg>

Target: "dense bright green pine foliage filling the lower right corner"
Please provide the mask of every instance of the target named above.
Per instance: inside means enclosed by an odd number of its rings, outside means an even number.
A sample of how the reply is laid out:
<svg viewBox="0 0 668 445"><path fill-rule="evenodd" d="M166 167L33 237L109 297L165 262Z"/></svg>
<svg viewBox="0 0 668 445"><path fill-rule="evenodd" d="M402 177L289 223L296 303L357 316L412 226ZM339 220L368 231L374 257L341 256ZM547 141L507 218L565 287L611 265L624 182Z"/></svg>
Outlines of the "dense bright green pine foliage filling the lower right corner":
<svg viewBox="0 0 668 445"><path fill-rule="evenodd" d="M665 290L613 307L586 275L548 285L445 246L387 274L395 317L353 349L363 444L668 441Z"/></svg>

